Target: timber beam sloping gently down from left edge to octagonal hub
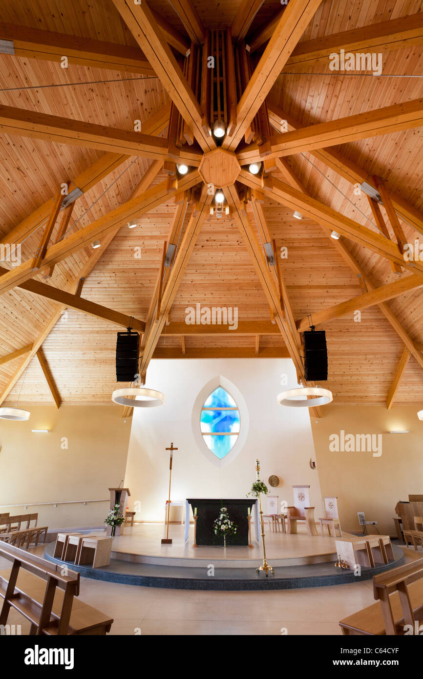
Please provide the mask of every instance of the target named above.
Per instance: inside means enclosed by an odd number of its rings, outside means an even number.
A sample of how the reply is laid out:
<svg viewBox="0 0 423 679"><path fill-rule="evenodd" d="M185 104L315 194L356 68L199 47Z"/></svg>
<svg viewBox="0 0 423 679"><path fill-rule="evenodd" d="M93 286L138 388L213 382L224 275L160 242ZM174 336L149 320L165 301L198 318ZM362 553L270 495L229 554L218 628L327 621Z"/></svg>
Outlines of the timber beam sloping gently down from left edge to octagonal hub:
<svg viewBox="0 0 423 679"><path fill-rule="evenodd" d="M137 155L163 162L172 160L168 155L168 142L161 137L132 130L117 130L57 115L25 111L11 106L0 105L0 132L100 151ZM179 157L180 162L196 167L200 164L202 154L196 149L183 146Z"/></svg>

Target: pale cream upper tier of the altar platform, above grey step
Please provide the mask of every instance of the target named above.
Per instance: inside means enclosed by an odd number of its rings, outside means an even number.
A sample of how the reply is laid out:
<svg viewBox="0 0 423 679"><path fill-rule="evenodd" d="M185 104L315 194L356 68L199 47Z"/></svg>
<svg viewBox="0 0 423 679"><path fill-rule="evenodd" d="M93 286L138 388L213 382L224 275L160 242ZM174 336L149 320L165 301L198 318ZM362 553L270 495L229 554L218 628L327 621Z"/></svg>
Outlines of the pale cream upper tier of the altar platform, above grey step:
<svg viewBox="0 0 423 679"><path fill-rule="evenodd" d="M253 527L252 527L253 528ZM204 566L213 561L221 568L251 568L251 562L261 562L261 545L253 540L250 547L202 546L192 547L194 526L189 528L185 543L184 526L170 524L172 545L162 545L166 526L163 524L136 524L125 526L124 535L113 538L112 557L143 564L163 566ZM253 531L252 531L253 532ZM348 534L346 534L348 535ZM299 524L296 534L265 533L266 557L272 566L293 566L335 561L335 540L327 535L309 536L305 526Z"/></svg>

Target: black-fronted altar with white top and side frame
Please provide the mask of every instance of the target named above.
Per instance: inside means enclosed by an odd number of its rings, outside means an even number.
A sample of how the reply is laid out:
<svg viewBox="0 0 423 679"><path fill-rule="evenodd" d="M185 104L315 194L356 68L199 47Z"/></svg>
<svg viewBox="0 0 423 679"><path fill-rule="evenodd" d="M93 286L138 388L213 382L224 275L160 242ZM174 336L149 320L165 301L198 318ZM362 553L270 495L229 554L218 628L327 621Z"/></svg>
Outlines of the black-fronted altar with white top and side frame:
<svg viewBox="0 0 423 679"><path fill-rule="evenodd" d="M185 543L189 538L189 507L193 513L197 509L197 545L223 545L223 536L215 536L213 524L219 516L221 507L227 507L229 518L235 521L237 526L236 535L227 540L231 546L245 546L249 544L249 521L248 509L254 521L254 536L257 543L260 542L259 533L259 510L255 498L225 499L225 498L187 498L185 500Z"/></svg>

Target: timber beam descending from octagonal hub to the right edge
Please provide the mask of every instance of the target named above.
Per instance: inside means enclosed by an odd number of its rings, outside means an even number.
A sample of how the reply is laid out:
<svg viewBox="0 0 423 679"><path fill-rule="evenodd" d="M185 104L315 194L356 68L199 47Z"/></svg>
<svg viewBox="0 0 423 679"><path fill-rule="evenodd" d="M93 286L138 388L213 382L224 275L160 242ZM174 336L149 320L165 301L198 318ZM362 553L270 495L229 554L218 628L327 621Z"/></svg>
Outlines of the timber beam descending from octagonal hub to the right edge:
<svg viewBox="0 0 423 679"><path fill-rule="evenodd" d="M251 172L246 172L246 170L240 171L238 181L245 183L253 189L261 190L260 180L251 175ZM314 200L314 198L307 194L301 193L298 189L289 187L289 185L278 181L278 179L272 179L272 186L272 189L270 187L265 187L264 189L265 194L269 198L289 206L293 211L300 210L303 215L313 219L318 224L328 227L331 232L335 230L350 240L354 240L354 242L373 250L378 255L395 261L413 272L422 272L423 274L423 263L416 261L410 265L409 262L404 261L397 244L387 238L358 224L358 222L349 219L349 217L344 217L344 215L341 215L336 210L329 208L318 200Z"/></svg>

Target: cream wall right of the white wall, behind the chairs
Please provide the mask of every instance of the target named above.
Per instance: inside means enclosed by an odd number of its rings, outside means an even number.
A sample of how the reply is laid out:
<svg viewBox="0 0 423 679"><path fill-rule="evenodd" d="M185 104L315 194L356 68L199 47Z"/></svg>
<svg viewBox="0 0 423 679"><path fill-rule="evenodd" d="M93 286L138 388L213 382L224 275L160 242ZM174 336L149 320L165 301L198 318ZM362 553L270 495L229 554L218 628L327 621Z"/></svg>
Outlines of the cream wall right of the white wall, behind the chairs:
<svg viewBox="0 0 423 679"><path fill-rule="evenodd" d="M416 405L327 405L324 417L312 419L312 433L323 496L337 496L345 530L359 530L357 511L378 521L381 534L396 535L392 517L398 500L423 493L423 422ZM382 455L372 452L331 452L329 436L382 435ZM409 430L409 434L389 434ZM369 527L369 532L375 532Z"/></svg>

